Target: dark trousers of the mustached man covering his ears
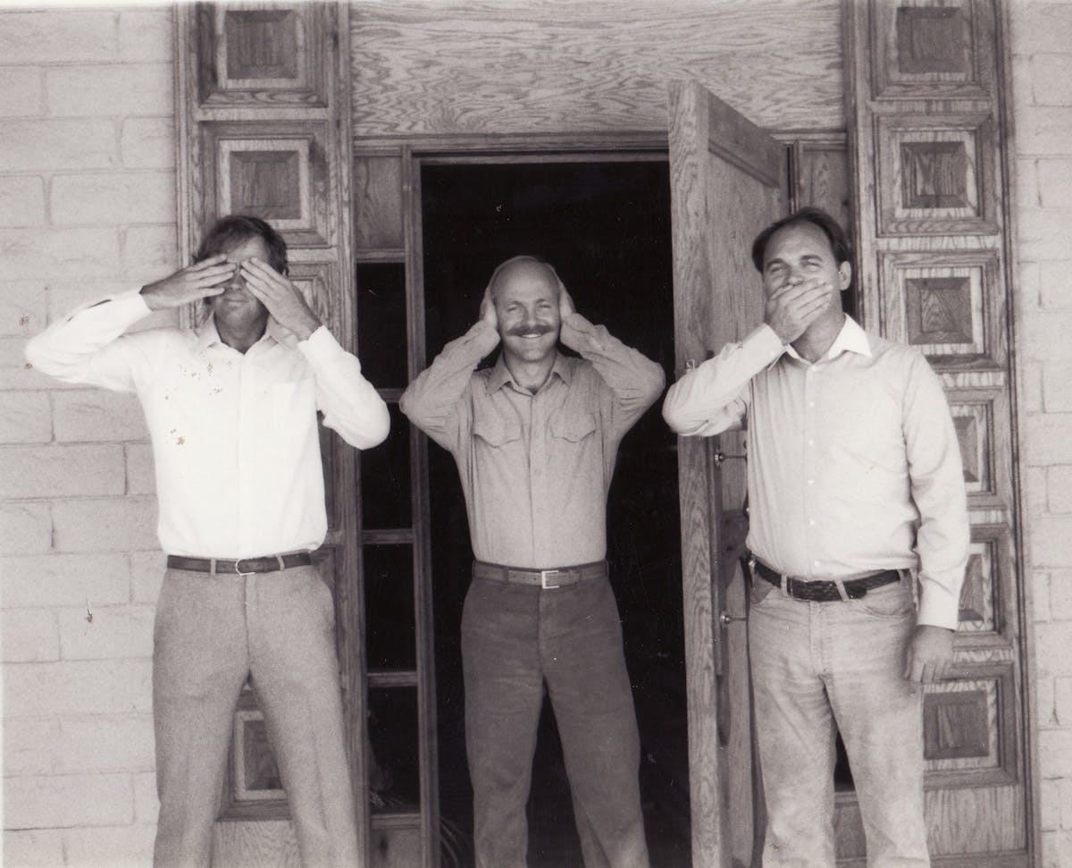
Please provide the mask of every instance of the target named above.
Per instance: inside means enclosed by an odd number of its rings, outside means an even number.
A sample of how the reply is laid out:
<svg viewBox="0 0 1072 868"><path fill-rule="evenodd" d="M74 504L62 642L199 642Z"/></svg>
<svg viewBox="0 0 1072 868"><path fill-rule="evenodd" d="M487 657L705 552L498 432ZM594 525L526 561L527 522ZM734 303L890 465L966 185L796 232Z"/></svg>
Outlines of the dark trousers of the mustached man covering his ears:
<svg viewBox="0 0 1072 868"><path fill-rule="evenodd" d="M542 590L475 578L462 614L465 745L478 868L524 866L547 682L587 868L645 868L640 739L606 577Z"/></svg>

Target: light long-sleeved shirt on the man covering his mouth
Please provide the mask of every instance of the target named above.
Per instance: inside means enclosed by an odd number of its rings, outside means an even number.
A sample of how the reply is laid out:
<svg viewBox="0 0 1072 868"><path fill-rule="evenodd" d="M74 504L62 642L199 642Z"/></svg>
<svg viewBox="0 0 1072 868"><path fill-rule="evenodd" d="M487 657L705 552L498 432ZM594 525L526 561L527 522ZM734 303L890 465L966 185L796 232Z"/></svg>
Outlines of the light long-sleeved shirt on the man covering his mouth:
<svg viewBox="0 0 1072 868"><path fill-rule="evenodd" d="M710 436L748 416L748 547L780 573L919 570L918 622L956 629L969 526L961 451L923 355L849 317L815 364L762 325L686 373L667 423Z"/></svg>

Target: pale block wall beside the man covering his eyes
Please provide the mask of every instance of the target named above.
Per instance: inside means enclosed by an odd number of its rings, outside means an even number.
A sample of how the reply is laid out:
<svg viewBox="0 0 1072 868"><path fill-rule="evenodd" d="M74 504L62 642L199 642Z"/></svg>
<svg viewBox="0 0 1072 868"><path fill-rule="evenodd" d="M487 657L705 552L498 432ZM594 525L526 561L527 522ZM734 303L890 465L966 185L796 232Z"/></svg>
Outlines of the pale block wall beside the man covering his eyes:
<svg viewBox="0 0 1072 868"><path fill-rule="evenodd" d="M145 424L134 398L63 386L23 351L177 265L173 39L165 6L0 11L5 866L152 860Z"/></svg>

